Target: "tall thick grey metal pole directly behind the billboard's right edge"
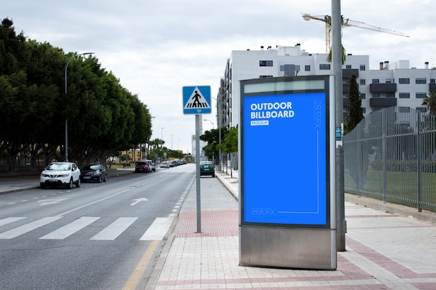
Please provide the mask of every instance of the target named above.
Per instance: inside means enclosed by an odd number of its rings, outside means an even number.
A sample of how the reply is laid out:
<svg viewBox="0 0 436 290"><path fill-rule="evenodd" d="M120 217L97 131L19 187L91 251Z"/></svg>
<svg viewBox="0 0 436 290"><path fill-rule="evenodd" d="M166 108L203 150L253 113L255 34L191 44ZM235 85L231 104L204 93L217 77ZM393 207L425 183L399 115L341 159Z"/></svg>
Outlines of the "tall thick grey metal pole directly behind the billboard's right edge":
<svg viewBox="0 0 436 290"><path fill-rule="evenodd" d="M332 66L335 86L336 130L343 129L341 0L332 0ZM342 134L341 134L342 135ZM343 181L343 140L336 140L336 250L345 251L345 196Z"/></svg>

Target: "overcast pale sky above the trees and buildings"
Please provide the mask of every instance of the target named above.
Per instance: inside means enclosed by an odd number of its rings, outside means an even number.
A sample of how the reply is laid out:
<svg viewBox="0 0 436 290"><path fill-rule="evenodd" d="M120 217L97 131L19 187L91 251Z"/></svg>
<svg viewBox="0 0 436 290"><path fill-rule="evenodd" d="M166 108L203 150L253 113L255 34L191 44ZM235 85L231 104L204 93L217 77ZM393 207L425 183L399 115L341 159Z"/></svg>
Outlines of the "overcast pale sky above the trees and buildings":
<svg viewBox="0 0 436 290"><path fill-rule="evenodd" d="M328 0L0 1L1 19L13 19L17 33L66 53L94 52L148 106L155 117L152 139L163 136L166 147L183 152L192 152L195 134L194 115L183 114L183 86L210 86L216 97L232 50L301 43L311 54L325 53L324 23L304 21L302 13L332 15ZM344 28L347 53L369 55L370 69L398 60L436 66L433 0L341 2L344 18L410 35ZM212 107L203 119L216 128L214 99ZM212 124L203 122L203 129Z"/></svg>

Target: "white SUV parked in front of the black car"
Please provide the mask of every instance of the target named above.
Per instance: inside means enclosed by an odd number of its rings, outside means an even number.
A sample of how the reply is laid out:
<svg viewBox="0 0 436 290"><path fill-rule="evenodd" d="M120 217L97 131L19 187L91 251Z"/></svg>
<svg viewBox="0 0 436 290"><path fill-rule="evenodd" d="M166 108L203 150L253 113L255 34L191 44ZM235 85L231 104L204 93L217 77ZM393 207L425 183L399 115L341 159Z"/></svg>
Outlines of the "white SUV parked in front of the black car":
<svg viewBox="0 0 436 290"><path fill-rule="evenodd" d="M67 186L72 188L75 184L80 187L80 169L72 162L52 162L42 170L40 175L40 187Z"/></svg>

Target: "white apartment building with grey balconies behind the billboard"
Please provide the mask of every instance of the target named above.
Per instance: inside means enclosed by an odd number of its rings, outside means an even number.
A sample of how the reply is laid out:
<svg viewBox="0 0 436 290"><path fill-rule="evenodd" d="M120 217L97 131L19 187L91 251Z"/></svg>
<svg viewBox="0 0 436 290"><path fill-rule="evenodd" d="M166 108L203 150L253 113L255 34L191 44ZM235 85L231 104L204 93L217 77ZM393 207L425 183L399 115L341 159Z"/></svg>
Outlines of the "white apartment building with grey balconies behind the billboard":
<svg viewBox="0 0 436 290"><path fill-rule="evenodd" d="M414 108L425 112L423 98L436 92L436 70L428 63L423 68L410 67L409 61L379 63L378 70L369 70L369 56L349 54L343 69L343 112L348 115L348 81L357 76L364 115L389 106ZM260 50L232 51L218 92L218 124L236 127L240 114L240 81L274 76L305 76L332 74L327 54L309 54L294 47L260 47Z"/></svg>

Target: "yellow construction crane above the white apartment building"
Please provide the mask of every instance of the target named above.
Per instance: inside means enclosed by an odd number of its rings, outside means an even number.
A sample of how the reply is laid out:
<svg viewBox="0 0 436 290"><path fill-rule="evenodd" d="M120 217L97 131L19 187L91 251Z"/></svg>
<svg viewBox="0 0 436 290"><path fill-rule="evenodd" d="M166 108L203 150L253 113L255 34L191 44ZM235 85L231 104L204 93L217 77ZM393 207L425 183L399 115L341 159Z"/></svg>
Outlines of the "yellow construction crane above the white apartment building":
<svg viewBox="0 0 436 290"><path fill-rule="evenodd" d="M315 20L320 20L322 22L325 22L325 52L328 54L329 50L330 50L330 31L332 30L332 17L330 17L329 15L310 15L307 13L304 13L302 15L302 17L304 20L308 20L308 21L311 19L315 19ZM342 18L341 19L342 26L358 27L359 29L368 29L368 30L372 30L372 31L389 33L389 34L394 34L394 35L398 35L398 36L403 36L405 38L409 37L409 35L407 35L406 33L403 33L403 32L394 31L394 30L390 30L390 29L382 29L381 27L366 24L365 22L344 19L343 17L341 17L341 18Z"/></svg>

